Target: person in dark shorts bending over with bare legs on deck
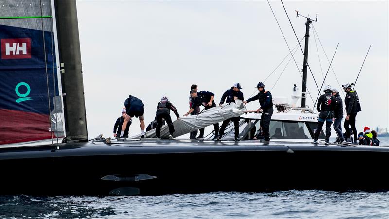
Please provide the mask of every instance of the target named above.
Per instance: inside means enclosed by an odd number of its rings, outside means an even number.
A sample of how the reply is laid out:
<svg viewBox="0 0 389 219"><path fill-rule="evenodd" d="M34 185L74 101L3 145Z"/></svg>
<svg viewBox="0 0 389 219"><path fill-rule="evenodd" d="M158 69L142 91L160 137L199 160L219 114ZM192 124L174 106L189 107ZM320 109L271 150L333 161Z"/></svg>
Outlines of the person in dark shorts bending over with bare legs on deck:
<svg viewBox="0 0 389 219"><path fill-rule="evenodd" d="M122 126L122 132L120 134L120 137L123 136L124 134L124 129L127 126L128 121L132 117L139 117L139 122L141 123L141 130L142 130L142 135L141 138L144 138L144 104L143 102L136 98L135 96L129 95L128 98L124 101L124 107L126 110L126 115L124 118L123 126Z"/></svg>

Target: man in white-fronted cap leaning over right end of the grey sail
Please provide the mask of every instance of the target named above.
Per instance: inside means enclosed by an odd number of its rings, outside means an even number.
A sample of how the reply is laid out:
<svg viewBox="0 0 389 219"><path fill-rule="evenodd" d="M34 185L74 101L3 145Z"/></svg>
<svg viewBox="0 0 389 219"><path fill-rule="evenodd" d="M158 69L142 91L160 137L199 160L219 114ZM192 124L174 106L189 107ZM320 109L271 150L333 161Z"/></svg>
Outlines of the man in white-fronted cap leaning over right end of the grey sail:
<svg viewBox="0 0 389 219"><path fill-rule="evenodd" d="M223 96L220 100L219 106L222 106L224 101L226 103L235 103L235 100L244 100L243 99L243 93L240 91L242 87L240 86L239 83L235 83L231 89L227 90L226 92L223 93ZM227 98L227 99L226 99ZM220 127L219 131L219 137L217 137L215 140L221 140L221 138L224 135L224 130L226 130L226 127L230 120L233 121L234 123L234 131L235 131L235 141L239 141L239 117L232 117L230 119L226 119L223 121L222 126Z"/></svg>

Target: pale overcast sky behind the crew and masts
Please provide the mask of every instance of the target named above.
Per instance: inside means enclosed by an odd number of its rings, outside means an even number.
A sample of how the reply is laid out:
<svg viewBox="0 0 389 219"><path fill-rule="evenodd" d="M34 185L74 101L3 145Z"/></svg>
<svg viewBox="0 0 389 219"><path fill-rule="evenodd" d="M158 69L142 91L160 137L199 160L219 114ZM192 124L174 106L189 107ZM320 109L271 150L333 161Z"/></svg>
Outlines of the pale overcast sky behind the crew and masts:
<svg viewBox="0 0 389 219"><path fill-rule="evenodd" d="M318 39L330 60L339 43L332 67L340 85L355 81L371 45L355 87L362 107L356 125L358 131L389 127L389 1L283 3L299 39L306 18L296 18L295 9L310 18L318 14L310 30L308 62L319 87L329 61ZM298 40L283 5L270 5L292 49ZM112 137L129 94L143 100L146 126L161 96L168 96L180 115L187 112L191 84L212 91L218 102L239 82L247 99L289 53L267 1L77 0L77 12L89 138ZM265 81L266 90L274 86L273 97L290 97L293 84L301 91L301 50L294 56L298 67L293 59L286 66L287 58ZM315 100L318 90L310 72L307 84ZM341 91L332 70L325 84ZM313 106L310 97L307 105ZM258 107L257 101L247 105L248 110ZM140 131L134 120L130 135Z"/></svg>

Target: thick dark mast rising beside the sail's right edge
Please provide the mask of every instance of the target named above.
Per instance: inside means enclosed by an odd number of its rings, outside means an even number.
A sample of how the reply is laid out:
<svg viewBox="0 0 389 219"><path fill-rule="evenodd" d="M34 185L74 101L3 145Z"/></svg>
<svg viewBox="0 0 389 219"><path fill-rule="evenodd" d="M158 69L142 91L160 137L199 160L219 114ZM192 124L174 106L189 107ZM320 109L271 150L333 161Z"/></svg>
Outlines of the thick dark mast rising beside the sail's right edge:
<svg viewBox="0 0 389 219"><path fill-rule="evenodd" d="M54 0L64 96L65 142L88 141L75 0Z"/></svg>

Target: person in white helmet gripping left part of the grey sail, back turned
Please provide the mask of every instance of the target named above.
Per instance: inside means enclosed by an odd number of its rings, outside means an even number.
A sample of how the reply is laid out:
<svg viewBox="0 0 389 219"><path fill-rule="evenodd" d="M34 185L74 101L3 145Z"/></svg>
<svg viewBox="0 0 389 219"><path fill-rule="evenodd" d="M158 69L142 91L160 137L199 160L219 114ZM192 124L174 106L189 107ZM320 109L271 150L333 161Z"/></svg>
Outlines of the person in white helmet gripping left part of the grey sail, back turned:
<svg viewBox="0 0 389 219"><path fill-rule="evenodd" d="M161 98L161 101L157 104L157 127L155 128L157 138L160 138L162 119L164 119L169 127L169 139L173 139L174 125L172 122L172 118L170 117L170 110L172 110L174 114L176 114L176 117L178 119L179 114L177 112L176 107L174 107L173 104L169 102L169 99L166 96L163 96Z"/></svg>

